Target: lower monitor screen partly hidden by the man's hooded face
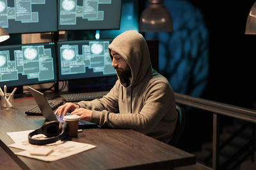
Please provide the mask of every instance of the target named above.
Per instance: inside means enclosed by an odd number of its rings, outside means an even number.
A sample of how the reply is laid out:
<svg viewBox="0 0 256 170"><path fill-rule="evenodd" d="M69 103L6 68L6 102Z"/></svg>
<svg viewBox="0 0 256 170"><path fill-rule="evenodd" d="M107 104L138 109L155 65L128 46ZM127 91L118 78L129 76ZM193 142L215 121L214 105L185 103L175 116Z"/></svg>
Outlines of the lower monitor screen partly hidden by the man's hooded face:
<svg viewBox="0 0 256 170"><path fill-rule="evenodd" d="M58 42L59 79L93 78L116 75L108 45L111 40Z"/></svg>

